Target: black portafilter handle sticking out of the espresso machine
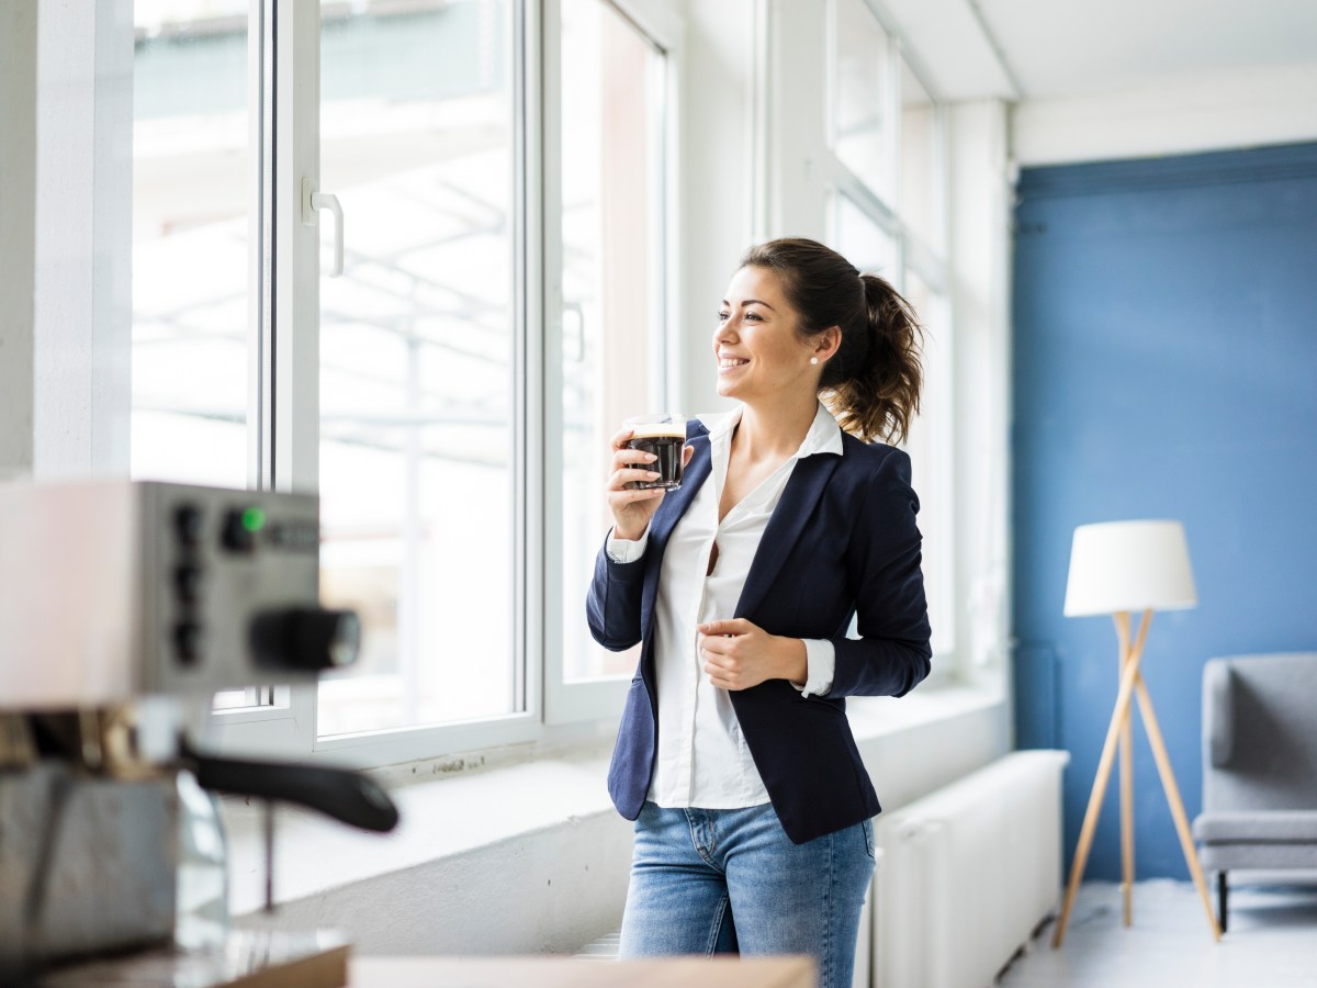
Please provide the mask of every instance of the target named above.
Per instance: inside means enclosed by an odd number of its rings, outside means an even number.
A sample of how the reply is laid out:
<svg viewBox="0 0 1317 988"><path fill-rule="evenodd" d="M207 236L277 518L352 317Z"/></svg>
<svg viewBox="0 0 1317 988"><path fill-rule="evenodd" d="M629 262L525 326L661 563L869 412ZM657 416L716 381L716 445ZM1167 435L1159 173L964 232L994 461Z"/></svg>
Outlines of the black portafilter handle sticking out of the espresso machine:
<svg viewBox="0 0 1317 988"><path fill-rule="evenodd" d="M352 769L219 757L191 748L184 750L184 765L211 792L294 802L381 834L398 826L398 806L389 793Z"/></svg>

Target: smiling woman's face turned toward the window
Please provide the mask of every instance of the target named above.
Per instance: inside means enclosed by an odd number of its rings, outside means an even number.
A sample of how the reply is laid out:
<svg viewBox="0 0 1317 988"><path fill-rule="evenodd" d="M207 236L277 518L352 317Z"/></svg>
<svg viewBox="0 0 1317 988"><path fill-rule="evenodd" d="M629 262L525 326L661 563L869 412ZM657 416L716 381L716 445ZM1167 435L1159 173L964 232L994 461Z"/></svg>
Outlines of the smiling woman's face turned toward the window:
<svg viewBox="0 0 1317 988"><path fill-rule="evenodd" d="M798 319L766 267L741 267L718 310L714 354L718 394L753 404L818 391L814 345L799 339Z"/></svg>

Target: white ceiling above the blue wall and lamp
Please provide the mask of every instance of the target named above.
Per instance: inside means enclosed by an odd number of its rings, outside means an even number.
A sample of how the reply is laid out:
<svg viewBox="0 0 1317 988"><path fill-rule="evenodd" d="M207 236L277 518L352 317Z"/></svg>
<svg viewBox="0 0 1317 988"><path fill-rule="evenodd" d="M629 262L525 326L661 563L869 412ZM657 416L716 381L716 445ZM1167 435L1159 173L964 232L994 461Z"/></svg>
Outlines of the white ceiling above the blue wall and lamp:
<svg viewBox="0 0 1317 988"><path fill-rule="evenodd" d="M944 100L1090 96L1225 71L1317 66L1317 0L874 5Z"/></svg>

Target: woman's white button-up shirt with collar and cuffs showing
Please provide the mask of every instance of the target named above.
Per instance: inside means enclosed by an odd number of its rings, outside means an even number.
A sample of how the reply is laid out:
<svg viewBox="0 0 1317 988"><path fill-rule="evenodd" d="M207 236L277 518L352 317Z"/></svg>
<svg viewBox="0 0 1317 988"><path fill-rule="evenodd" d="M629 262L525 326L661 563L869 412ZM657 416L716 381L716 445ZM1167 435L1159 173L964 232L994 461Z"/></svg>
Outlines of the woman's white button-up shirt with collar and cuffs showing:
<svg viewBox="0 0 1317 988"><path fill-rule="evenodd" d="M797 461L815 453L842 453L842 429L820 403L801 448L719 522L731 439L740 416L740 408L701 416L709 429L712 469L673 528L658 576L653 623L658 755L649 798L660 806L740 809L768 802L731 697L705 672L695 628L735 615L768 519ZM710 573L715 543L718 559ZM616 561L630 563L644 555L647 544L648 532L637 541L610 537L607 551ZM805 651L809 678L795 686L805 696L827 693L835 669L832 643L805 639Z"/></svg>

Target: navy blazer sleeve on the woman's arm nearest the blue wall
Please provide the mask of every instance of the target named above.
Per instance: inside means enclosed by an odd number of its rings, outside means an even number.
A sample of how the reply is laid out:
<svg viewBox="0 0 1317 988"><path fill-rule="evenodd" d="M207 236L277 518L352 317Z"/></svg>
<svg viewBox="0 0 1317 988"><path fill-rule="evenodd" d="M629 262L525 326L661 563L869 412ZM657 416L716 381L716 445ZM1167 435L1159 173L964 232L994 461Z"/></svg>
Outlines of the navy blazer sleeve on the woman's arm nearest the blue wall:
<svg viewBox="0 0 1317 988"><path fill-rule="evenodd" d="M928 674L918 511L910 457L892 449L874 469L852 535L847 565L860 638L831 639L836 668L830 697L900 697Z"/></svg>

